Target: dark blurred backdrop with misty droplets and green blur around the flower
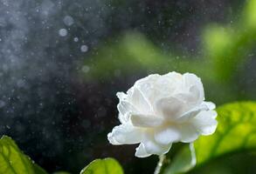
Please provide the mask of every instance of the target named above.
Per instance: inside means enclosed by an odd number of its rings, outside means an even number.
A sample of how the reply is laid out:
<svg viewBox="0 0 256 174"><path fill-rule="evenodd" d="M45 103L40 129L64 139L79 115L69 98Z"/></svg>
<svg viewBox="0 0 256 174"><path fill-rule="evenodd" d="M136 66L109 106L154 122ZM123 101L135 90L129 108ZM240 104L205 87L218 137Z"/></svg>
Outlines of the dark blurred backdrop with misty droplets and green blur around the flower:
<svg viewBox="0 0 256 174"><path fill-rule="evenodd" d="M107 142L115 93L177 70L214 103L255 99L255 43L254 0L0 0L0 133L49 172L116 157L152 173L157 157Z"/></svg>

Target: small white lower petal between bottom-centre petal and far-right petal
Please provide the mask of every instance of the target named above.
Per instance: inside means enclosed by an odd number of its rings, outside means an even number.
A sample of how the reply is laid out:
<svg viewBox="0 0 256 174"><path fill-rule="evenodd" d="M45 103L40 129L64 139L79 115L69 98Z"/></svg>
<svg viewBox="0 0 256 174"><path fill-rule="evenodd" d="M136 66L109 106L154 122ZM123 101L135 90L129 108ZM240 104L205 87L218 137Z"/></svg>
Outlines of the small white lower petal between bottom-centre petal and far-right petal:
<svg viewBox="0 0 256 174"><path fill-rule="evenodd" d="M179 125L179 132L181 134L181 142L183 143L194 142L199 136L199 132L192 124Z"/></svg>

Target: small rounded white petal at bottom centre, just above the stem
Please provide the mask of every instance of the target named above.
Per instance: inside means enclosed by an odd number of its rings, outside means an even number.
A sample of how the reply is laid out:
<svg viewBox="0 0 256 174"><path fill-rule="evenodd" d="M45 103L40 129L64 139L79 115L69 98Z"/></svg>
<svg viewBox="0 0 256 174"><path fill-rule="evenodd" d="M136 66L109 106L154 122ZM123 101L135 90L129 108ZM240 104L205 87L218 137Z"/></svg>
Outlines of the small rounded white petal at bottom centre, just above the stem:
<svg viewBox="0 0 256 174"><path fill-rule="evenodd" d="M171 144L180 139L180 133L176 128L166 128L155 133L156 142L159 144Z"/></svg>

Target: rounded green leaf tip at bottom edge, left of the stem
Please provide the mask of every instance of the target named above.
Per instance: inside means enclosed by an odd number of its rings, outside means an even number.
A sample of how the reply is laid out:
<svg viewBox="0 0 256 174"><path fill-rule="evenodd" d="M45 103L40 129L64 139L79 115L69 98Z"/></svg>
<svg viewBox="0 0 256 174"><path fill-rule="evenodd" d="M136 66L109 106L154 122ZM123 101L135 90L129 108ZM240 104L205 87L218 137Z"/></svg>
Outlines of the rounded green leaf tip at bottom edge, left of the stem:
<svg viewBox="0 0 256 174"><path fill-rule="evenodd" d="M80 174L123 174L121 165L114 158L95 159Z"/></svg>

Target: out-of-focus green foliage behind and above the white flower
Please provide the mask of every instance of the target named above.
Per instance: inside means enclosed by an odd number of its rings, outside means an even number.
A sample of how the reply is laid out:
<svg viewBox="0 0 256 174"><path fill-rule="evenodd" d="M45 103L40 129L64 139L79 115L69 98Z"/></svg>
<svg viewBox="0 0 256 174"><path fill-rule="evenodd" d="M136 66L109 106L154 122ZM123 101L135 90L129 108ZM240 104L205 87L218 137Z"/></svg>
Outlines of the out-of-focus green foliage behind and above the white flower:
<svg viewBox="0 0 256 174"><path fill-rule="evenodd" d="M111 81L134 73L189 71L202 77L207 97L216 103L245 99L238 80L256 43L255 2L246 2L237 21L206 26L200 56L161 50L138 32L128 31L112 38L86 59L85 64L90 67L86 80Z"/></svg>

